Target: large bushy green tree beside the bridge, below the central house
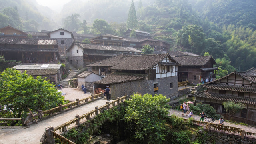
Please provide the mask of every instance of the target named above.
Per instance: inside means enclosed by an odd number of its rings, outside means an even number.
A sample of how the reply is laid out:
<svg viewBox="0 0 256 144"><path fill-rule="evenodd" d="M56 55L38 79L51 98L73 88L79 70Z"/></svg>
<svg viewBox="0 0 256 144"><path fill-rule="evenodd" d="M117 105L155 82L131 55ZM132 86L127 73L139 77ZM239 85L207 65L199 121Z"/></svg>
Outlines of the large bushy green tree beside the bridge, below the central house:
<svg viewBox="0 0 256 144"><path fill-rule="evenodd" d="M169 114L170 106L166 104L170 99L161 94L133 94L127 100L124 120L128 133L137 143L162 144L166 136L165 118Z"/></svg>

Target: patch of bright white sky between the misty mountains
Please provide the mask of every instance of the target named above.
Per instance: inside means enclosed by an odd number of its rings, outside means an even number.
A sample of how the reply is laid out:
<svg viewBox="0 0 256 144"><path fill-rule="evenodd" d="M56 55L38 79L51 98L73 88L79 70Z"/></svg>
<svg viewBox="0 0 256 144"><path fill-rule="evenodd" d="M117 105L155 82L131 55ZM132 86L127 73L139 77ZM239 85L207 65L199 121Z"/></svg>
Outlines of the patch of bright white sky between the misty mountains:
<svg viewBox="0 0 256 144"><path fill-rule="evenodd" d="M58 8L56 9L59 10L62 8L64 4L68 3L71 0L36 0L36 1L38 2L38 4L42 6L48 6L51 9L55 9L56 6L58 6Z"/></svg>

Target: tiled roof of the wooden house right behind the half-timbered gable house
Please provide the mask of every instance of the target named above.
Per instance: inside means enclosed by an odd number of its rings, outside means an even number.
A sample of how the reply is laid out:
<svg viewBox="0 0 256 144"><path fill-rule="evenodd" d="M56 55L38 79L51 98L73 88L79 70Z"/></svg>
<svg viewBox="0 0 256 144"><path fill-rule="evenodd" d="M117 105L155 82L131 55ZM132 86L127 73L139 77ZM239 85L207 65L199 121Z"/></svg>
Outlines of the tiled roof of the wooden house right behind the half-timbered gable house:
<svg viewBox="0 0 256 144"><path fill-rule="evenodd" d="M182 66L204 66L209 60L212 60L213 64L216 64L212 56L184 56L173 59Z"/></svg>

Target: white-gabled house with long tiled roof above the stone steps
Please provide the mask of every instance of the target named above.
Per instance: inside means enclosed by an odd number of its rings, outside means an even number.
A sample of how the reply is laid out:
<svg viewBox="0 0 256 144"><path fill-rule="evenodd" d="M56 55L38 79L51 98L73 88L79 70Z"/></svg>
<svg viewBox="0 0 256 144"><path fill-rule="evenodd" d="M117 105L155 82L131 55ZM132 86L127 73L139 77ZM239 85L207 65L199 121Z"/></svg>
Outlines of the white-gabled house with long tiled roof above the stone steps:
<svg viewBox="0 0 256 144"><path fill-rule="evenodd" d="M140 54L141 51L132 47L85 44L80 42L73 42L67 50L68 61L76 68L83 68L92 62L104 60L122 53Z"/></svg>

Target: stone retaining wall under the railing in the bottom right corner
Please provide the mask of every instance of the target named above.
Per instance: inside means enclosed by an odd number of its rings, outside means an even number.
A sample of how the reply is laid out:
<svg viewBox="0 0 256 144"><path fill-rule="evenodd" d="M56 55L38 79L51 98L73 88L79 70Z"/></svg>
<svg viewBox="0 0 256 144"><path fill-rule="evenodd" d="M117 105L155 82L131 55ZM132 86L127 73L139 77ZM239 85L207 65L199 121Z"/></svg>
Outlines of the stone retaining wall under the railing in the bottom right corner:
<svg viewBox="0 0 256 144"><path fill-rule="evenodd" d="M204 129L206 131L206 129ZM203 134L202 130L198 133L192 134L191 141L193 142L196 138L199 138L200 134ZM256 138L244 136L242 138L239 134L231 134L222 132L219 130L210 130L210 132L204 133L204 144L256 144Z"/></svg>

